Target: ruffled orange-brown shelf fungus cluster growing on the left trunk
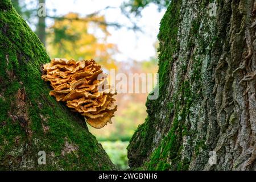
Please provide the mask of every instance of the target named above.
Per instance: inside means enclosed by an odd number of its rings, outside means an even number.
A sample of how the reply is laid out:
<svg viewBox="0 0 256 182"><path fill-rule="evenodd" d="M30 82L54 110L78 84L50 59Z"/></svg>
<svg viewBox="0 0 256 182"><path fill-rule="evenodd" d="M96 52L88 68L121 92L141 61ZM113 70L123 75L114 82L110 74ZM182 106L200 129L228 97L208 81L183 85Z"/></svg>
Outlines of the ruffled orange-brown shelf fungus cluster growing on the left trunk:
<svg viewBox="0 0 256 182"><path fill-rule="evenodd" d="M115 90L108 85L107 75L94 60L53 59L43 66L43 80L51 82L49 95L67 103L81 113L87 123L97 129L104 127L117 110Z"/></svg>

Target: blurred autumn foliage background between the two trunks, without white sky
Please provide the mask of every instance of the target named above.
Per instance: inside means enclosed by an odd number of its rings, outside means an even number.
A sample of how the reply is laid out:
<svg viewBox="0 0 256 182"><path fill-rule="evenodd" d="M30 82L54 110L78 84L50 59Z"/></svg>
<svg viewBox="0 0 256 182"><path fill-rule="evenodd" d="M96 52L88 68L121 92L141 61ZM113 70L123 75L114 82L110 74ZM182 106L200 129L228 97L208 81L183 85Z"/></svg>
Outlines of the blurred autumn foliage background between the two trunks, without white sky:
<svg viewBox="0 0 256 182"><path fill-rule="evenodd" d="M15 9L35 31L52 58L64 57L75 60L93 58L102 65L105 72L108 73L110 69L115 69L116 73L125 73L127 76L129 73L157 72L156 52L154 57L144 61L116 61L113 58L118 52L118 47L107 41L110 36L108 27L125 27L140 31L138 24L134 23L133 26L129 27L117 22L106 22L105 16L100 14L101 10L84 17L75 12L68 12L59 16L52 15L56 11L55 9L49 10L46 7L46 16L38 16L38 10L42 8L39 5L45 3L46 0L12 1ZM123 2L119 9L127 17L131 15L141 16L144 7L151 3L158 5L158 9L162 10L168 6L170 1L129 0ZM49 11L51 11L51 16L48 14ZM51 26L47 25L46 18L52 19L53 24ZM154 46L157 48L158 42ZM113 163L121 169L126 169L128 168L126 147L135 129L144 122L147 115L145 106L147 93L118 94L115 98L118 110L112 119L113 124L100 130L88 127L105 148Z"/></svg>

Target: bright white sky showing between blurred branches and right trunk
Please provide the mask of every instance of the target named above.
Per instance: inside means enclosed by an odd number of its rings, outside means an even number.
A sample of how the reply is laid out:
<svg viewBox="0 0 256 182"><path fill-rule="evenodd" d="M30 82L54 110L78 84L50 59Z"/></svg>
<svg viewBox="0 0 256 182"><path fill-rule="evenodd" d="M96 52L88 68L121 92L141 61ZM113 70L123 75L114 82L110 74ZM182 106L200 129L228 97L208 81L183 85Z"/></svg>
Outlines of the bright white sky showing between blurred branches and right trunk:
<svg viewBox="0 0 256 182"><path fill-rule="evenodd" d="M47 9L56 9L55 15L65 15L69 12L79 13L81 16L102 10L107 6L119 7L124 0L46 0ZM48 12L51 13L51 12ZM102 11L107 22L118 22L129 26L130 21L121 13L119 8L107 9ZM127 60L148 60L155 55L154 43L156 42L159 23L164 11L157 10L155 5L150 5L142 11L142 17L137 18L136 22L143 32L134 32L126 28L116 29L109 27L112 34L108 42L117 44L119 53L115 55L118 61ZM51 24L51 20L47 20L47 24Z"/></svg>

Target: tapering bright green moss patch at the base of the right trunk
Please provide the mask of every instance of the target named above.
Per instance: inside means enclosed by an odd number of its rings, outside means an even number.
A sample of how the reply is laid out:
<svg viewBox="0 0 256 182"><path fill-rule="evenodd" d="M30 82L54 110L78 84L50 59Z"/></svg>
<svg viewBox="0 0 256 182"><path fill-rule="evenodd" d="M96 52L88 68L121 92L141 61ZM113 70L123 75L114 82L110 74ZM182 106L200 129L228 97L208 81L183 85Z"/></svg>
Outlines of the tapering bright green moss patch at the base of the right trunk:
<svg viewBox="0 0 256 182"><path fill-rule="evenodd" d="M185 125L185 119L189 114L189 108L192 104L194 96L192 96L191 85L185 80L179 90L174 94L172 102L168 106L174 107L175 117L172 120L171 129L164 137L159 147L150 156L150 162L145 164L147 169L157 170L185 170L188 169L187 159L181 161L180 152L183 148L182 137L188 133L188 127ZM175 103L172 104L172 103ZM160 161L159 161L160 160ZM171 162L171 165L167 161Z"/></svg>

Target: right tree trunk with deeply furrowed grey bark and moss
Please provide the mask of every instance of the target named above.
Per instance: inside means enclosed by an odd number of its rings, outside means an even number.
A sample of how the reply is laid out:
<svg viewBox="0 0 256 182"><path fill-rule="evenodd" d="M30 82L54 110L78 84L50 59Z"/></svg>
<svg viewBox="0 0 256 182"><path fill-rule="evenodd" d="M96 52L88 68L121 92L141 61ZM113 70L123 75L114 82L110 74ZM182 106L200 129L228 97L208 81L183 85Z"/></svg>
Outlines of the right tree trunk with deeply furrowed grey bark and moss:
<svg viewBox="0 0 256 182"><path fill-rule="evenodd" d="M130 167L256 170L256 2L172 0L160 24L159 93ZM217 164L208 163L216 151Z"/></svg>

